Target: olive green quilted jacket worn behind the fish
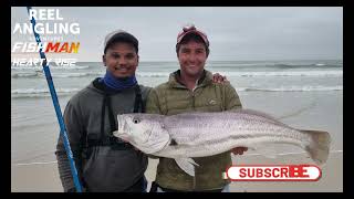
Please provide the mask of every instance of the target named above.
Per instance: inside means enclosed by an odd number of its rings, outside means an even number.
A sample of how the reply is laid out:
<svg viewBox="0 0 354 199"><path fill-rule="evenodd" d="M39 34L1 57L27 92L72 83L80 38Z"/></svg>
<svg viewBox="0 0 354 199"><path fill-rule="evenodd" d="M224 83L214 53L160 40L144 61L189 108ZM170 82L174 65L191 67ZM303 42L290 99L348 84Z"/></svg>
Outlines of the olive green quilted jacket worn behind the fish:
<svg viewBox="0 0 354 199"><path fill-rule="evenodd" d="M230 83L214 83L210 72L205 70L194 91L178 81L179 74L179 70L171 73L167 83L152 90L147 97L147 113L175 115L190 111L222 112L242 107ZM222 178L222 172L232 164L230 151L194 160L199 166L195 168L195 177L191 177L174 159L160 157L156 182L160 187L183 191L220 189L230 182Z"/></svg>

